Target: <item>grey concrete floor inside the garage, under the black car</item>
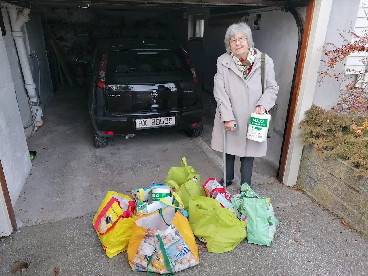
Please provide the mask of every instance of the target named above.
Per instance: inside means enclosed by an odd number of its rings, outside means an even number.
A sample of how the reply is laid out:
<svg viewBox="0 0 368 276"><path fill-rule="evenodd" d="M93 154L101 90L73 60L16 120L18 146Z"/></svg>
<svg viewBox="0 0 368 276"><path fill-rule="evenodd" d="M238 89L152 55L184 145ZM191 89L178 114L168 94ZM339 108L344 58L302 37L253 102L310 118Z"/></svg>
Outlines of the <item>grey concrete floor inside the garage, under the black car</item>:
<svg viewBox="0 0 368 276"><path fill-rule="evenodd" d="M108 190L121 193L163 184L171 167L187 158L204 183L222 177L222 153L209 144L213 119L208 117L202 137L191 139L183 131L114 136L106 148L93 146L93 126L84 90L58 91L43 117L45 126L28 138L37 151L31 173L15 206L18 225L48 223L96 212ZM219 157L220 158L219 158ZM236 171L240 172L240 160ZM274 182L276 171L262 158L254 164L255 184ZM229 186L240 191L240 179Z"/></svg>

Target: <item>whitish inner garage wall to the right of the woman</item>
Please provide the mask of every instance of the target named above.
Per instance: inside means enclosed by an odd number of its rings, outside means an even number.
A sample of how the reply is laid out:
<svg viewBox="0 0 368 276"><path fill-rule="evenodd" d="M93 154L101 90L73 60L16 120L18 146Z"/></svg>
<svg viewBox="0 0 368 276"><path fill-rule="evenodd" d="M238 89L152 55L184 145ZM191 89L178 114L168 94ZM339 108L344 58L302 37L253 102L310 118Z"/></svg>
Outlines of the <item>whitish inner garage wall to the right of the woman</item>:
<svg viewBox="0 0 368 276"><path fill-rule="evenodd" d="M305 16L306 8L299 13ZM255 14L249 15L252 26ZM279 166L282 140L289 105L291 83L298 47L298 29L293 15L283 11L261 13L261 28L253 30L255 48L266 52L275 64L275 75L280 87L276 104L279 105L277 117L273 118L274 132L267 143L267 155L264 157L275 168Z"/></svg>

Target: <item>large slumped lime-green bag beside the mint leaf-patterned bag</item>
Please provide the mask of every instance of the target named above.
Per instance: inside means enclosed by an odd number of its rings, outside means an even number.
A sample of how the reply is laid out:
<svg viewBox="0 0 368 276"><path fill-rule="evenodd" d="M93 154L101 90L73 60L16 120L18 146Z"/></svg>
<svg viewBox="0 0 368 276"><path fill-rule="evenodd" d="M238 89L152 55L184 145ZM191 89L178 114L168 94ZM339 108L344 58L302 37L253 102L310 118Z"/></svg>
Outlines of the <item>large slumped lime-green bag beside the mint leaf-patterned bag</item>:
<svg viewBox="0 0 368 276"><path fill-rule="evenodd" d="M191 196L188 221L210 253L231 251L245 238L247 224L213 198Z"/></svg>

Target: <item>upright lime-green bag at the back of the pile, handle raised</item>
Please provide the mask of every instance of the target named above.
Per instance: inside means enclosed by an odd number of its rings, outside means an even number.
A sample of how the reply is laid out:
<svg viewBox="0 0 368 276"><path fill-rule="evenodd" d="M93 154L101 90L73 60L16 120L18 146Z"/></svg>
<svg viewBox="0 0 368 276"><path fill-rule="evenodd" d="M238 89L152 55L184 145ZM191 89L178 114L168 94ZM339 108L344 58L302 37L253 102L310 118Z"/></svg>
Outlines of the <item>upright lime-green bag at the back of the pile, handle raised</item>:
<svg viewBox="0 0 368 276"><path fill-rule="evenodd" d="M193 167L187 165L185 157L180 160L180 167L171 168L167 173L165 184L175 189L184 203L184 209L188 211L190 196L204 196L201 177Z"/></svg>

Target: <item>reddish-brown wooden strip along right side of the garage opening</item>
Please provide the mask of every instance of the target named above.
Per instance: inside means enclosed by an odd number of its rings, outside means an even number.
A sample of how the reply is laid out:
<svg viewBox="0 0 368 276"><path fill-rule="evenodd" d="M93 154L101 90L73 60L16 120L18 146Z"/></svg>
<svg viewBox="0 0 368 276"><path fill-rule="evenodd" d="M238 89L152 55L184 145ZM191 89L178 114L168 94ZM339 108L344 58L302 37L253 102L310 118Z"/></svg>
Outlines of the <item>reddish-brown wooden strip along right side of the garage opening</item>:
<svg viewBox="0 0 368 276"><path fill-rule="evenodd" d="M278 180L280 182L283 181L285 168L286 168L286 160L287 160L287 154L289 152L291 131L293 130L293 123L294 123L294 118L296 114L296 107L297 107L297 102L298 102L298 97L299 97L301 77L303 74L305 57L307 56L307 46L308 46L309 35L311 34L311 25L312 25L312 18L313 18L313 13L314 13L315 2L316 0L309 0L308 7L307 7L307 15L305 17L305 28L304 28L304 34L303 34L303 39L302 39L302 44L301 44L297 75L295 78L293 95L291 98L289 120L287 120L285 140L284 140L283 151L282 151L281 160L280 160L280 167L279 167L279 174L278 174Z"/></svg>

